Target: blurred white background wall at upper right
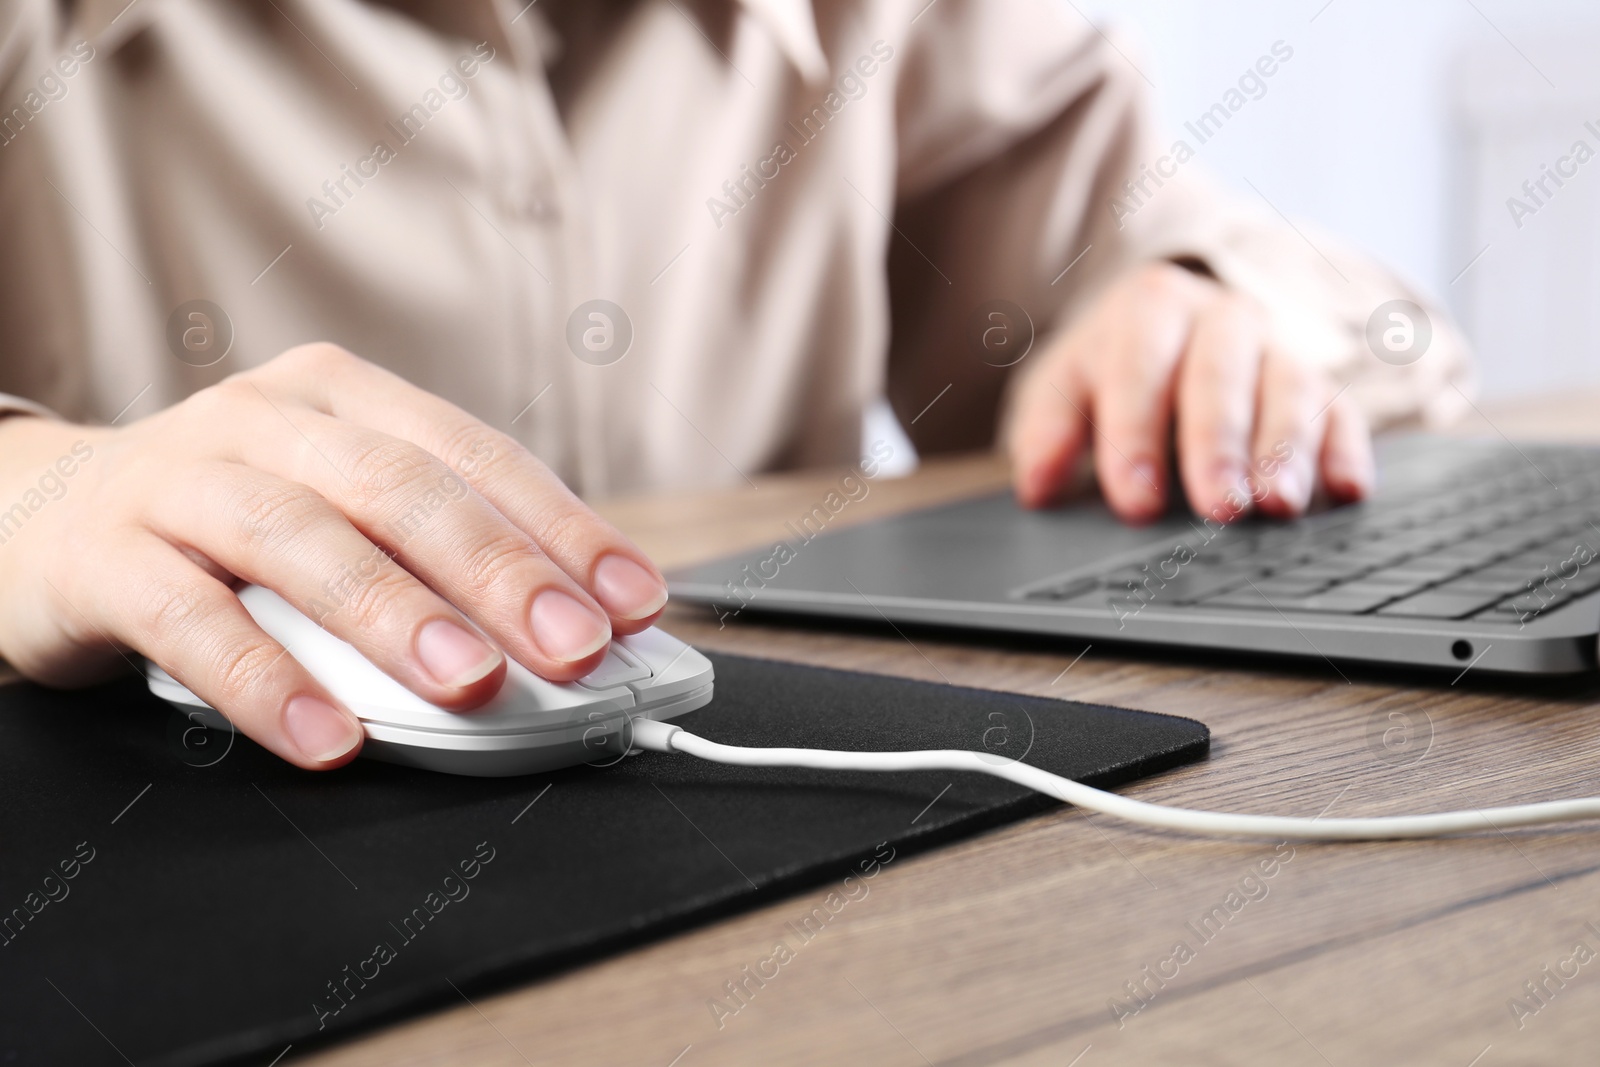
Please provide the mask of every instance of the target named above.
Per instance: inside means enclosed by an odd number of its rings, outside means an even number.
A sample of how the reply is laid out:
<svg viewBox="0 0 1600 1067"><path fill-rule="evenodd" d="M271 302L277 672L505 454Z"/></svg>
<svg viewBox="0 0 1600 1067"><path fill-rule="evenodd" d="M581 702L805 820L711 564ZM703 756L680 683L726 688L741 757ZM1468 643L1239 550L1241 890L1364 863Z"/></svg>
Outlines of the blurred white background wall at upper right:
<svg viewBox="0 0 1600 1067"><path fill-rule="evenodd" d="M1594 0L1070 2L1133 37L1174 136L1286 42L1294 58L1269 93L1198 158L1443 301L1478 350L1485 397L1600 384ZM1578 139L1597 158L1547 182L1555 195L1518 229L1506 200L1526 200L1522 182Z"/></svg>

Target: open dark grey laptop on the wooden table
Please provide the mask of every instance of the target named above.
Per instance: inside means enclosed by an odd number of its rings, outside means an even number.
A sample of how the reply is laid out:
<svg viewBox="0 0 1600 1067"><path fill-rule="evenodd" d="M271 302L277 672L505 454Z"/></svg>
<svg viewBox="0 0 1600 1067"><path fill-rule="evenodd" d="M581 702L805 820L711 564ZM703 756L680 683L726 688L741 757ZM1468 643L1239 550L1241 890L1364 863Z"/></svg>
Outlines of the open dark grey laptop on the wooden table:
<svg viewBox="0 0 1600 1067"><path fill-rule="evenodd" d="M757 613L1514 673L1597 665L1600 448L1379 442L1371 499L1222 525L1126 526L1010 491L813 533L669 574ZM826 512L822 512L826 515Z"/></svg>

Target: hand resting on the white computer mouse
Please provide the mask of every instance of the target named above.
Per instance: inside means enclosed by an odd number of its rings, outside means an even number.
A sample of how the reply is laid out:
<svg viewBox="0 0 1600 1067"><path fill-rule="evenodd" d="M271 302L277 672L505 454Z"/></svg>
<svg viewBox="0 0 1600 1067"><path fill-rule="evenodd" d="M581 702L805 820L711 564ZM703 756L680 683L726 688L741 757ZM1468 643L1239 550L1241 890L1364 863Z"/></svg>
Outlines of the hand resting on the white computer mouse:
<svg viewBox="0 0 1600 1067"><path fill-rule="evenodd" d="M514 438L334 346L126 427L6 418L0 458L0 657L66 686L142 653L304 768L354 758L362 726L254 624L240 582L451 710L499 691L501 649L579 678L667 600Z"/></svg>

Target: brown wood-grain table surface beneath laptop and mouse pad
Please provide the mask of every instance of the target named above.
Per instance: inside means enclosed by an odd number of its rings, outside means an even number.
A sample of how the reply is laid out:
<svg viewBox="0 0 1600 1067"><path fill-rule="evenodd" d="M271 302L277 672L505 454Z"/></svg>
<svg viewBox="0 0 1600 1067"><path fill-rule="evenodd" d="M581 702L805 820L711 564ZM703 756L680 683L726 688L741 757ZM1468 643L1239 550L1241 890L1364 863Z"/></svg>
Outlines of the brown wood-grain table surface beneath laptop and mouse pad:
<svg viewBox="0 0 1600 1067"><path fill-rule="evenodd" d="M1515 437L1595 437L1595 402L1493 408L1488 418ZM1483 422L1474 416L1467 430L1494 432ZM603 510L670 566L770 544L782 520L835 478L763 477L754 491ZM840 518L955 499L1003 478L982 456L931 462L875 483ZM957 685L1203 720L1213 729L1208 761L1125 790L1154 801L1357 816L1600 793L1592 678L1496 681L1469 672L1453 683L1346 667L1346 681L1322 661L1104 648L1062 673L1082 641L1011 651L1005 641L918 632L914 648L886 627L718 630L707 614L677 608L666 624L704 648L942 673ZM1262 861L1274 857L1262 877ZM824 894L803 893L304 1062L1600 1062L1595 827L1274 849L1061 808L891 864L718 1029L707 1001ZM1178 942L1189 949L1182 961ZM1130 982L1142 985L1139 998ZM1542 984L1538 998L1526 982Z"/></svg>

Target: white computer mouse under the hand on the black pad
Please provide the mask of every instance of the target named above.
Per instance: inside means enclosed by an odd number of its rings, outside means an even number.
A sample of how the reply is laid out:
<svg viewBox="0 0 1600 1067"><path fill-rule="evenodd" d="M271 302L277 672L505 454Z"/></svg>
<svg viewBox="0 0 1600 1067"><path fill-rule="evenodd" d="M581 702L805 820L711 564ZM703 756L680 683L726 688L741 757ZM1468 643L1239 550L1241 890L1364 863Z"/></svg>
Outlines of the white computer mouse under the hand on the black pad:
<svg viewBox="0 0 1600 1067"><path fill-rule="evenodd" d="M270 589L246 585L238 598L262 630L362 720L362 755L389 763L485 777L603 763L627 752L629 718L675 718L710 701L710 661L651 627L613 640L605 661L578 681L546 681L510 661L493 701L472 712L446 712ZM197 721L232 729L155 664L146 667L146 678L150 693Z"/></svg>

